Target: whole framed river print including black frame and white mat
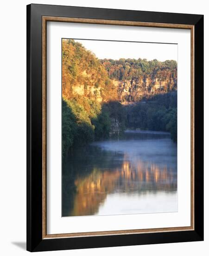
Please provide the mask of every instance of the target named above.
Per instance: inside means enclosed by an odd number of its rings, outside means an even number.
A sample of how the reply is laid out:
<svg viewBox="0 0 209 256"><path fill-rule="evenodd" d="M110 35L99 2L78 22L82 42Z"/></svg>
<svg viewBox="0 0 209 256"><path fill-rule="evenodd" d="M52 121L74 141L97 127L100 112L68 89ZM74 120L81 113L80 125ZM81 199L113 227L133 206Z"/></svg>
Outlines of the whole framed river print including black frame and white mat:
<svg viewBox="0 0 209 256"><path fill-rule="evenodd" d="M203 240L203 15L27 6L27 250Z"/></svg>

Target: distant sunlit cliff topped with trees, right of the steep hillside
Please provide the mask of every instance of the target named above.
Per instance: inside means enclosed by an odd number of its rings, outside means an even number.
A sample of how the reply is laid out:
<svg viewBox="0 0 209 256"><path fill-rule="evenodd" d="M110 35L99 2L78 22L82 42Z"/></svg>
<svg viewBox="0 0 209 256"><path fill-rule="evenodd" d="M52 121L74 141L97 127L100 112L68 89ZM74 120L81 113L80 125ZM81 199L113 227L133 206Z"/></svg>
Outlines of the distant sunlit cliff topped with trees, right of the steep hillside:
<svg viewBox="0 0 209 256"><path fill-rule="evenodd" d="M101 63L117 87L119 99L123 103L177 90L176 61L147 61L139 58L105 59Z"/></svg>

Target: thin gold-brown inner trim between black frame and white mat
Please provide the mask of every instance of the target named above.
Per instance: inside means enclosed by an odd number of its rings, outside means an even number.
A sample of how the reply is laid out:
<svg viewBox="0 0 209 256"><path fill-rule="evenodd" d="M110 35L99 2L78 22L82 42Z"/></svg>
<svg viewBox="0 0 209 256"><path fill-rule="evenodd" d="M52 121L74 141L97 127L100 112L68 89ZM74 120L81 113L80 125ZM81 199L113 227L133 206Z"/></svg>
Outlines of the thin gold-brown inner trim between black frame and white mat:
<svg viewBox="0 0 209 256"><path fill-rule="evenodd" d="M137 26L137 27L164 27L177 29L190 29L191 32L191 223L188 227L158 228L158 229L130 229L114 231L98 231L68 234L51 234L46 232L46 23L47 21L74 22L103 25ZM167 24L123 20L97 20L82 18L64 18L64 17L42 17L42 238L61 238L61 237L79 237L79 236L105 236L105 235L124 235L124 234L142 234L156 232L171 232L194 230L194 26L184 24Z"/></svg>

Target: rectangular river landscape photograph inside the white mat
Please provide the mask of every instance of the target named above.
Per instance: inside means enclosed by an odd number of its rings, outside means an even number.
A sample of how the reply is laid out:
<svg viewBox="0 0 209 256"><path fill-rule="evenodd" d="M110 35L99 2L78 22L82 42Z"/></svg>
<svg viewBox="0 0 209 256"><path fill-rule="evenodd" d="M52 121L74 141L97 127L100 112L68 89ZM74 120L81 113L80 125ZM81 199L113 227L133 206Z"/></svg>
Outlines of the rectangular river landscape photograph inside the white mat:
<svg viewBox="0 0 209 256"><path fill-rule="evenodd" d="M177 212L178 44L61 44L62 217Z"/></svg>

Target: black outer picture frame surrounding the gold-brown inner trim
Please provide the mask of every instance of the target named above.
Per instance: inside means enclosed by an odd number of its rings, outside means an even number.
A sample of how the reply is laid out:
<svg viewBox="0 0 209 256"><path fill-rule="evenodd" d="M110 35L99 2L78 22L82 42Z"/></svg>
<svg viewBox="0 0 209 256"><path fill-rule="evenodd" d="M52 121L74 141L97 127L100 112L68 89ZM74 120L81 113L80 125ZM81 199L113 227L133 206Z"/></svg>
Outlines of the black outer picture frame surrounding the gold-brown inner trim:
<svg viewBox="0 0 209 256"><path fill-rule="evenodd" d="M194 26L194 230L43 239L42 17ZM185 95L186 97L186 95ZM203 15L31 4L27 6L27 250L203 241Z"/></svg>

